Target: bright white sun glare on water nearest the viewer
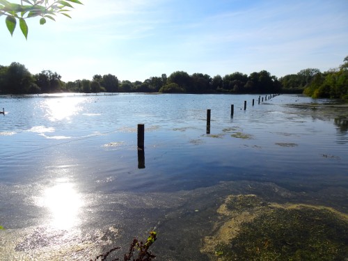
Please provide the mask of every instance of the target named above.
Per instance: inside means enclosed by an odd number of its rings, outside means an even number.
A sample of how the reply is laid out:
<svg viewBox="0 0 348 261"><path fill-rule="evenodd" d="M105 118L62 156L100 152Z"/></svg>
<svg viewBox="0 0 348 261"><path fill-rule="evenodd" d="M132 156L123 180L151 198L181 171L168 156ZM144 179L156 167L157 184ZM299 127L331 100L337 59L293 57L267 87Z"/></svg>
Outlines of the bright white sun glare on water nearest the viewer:
<svg viewBox="0 0 348 261"><path fill-rule="evenodd" d="M51 212L50 225L56 229L67 230L77 226L82 205L81 195L68 180L57 180L42 195L42 206Z"/></svg>

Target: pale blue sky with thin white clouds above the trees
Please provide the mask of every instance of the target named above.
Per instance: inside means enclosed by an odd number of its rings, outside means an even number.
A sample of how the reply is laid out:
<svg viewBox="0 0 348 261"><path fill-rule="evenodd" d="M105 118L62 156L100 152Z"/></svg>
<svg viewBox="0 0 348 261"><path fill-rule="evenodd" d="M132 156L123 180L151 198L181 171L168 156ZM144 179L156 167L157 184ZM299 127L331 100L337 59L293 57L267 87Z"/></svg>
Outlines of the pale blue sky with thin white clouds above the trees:
<svg viewBox="0 0 348 261"><path fill-rule="evenodd" d="M28 21L25 40L0 17L0 65L63 81L114 74L143 81L177 70L276 77L337 68L348 56L348 0L81 0L67 17Z"/></svg>

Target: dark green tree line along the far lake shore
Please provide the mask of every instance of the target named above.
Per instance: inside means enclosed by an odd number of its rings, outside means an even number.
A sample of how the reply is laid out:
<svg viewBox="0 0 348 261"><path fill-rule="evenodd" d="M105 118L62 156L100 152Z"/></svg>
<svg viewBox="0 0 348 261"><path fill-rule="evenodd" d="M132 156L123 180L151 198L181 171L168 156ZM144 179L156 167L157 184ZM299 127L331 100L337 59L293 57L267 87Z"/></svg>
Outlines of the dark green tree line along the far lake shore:
<svg viewBox="0 0 348 261"><path fill-rule="evenodd" d="M31 74L20 63L0 65L0 94L36 93L305 93L312 97L348 98L348 56L340 68L328 72L308 68L278 79L266 70L249 75L234 72L221 77L176 71L168 77L145 81L119 81L113 74L95 74L92 79L64 82L50 70Z"/></svg>

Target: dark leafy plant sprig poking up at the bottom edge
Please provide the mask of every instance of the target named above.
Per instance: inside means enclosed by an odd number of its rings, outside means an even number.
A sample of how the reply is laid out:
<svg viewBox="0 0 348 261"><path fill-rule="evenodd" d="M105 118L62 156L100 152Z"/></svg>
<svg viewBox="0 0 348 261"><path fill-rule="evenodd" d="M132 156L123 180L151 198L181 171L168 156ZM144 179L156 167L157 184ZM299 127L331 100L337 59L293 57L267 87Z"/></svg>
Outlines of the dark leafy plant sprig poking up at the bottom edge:
<svg viewBox="0 0 348 261"><path fill-rule="evenodd" d="M150 236L146 240L145 244L143 242L139 242L138 239L134 238L132 244L129 246L129 251L125 254L124 261L151 261L156 258L156 255L152 254L149 251L150 246L156 241L156 232L151 231ZM113 252L120 249L120 247L112 248L102 255L98 255L94 261L101 260L104 261L106 258ZM136 257L137 253L137 257ZM118 261L119 258L113 259L112 261ZM93 260L90 260L93 261Z"/></svg>

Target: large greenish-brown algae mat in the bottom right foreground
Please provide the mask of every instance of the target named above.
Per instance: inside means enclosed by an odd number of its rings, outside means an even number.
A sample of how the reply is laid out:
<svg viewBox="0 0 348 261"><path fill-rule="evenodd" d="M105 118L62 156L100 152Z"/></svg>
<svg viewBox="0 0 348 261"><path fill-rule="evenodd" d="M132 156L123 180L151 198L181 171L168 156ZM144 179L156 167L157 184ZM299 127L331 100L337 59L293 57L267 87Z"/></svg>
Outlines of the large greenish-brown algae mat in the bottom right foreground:
<svg viewBox="0 0 348 261"><path fill-rule="evenodd" d="M205 237L212 260L347 260L348 216L328 207L264 203L254 195L228 196L228 217Z"/></svg>

